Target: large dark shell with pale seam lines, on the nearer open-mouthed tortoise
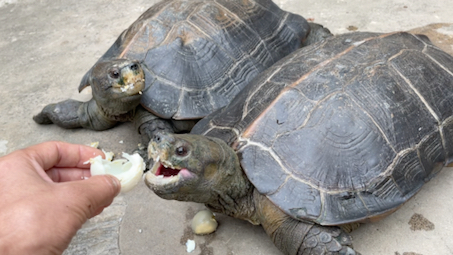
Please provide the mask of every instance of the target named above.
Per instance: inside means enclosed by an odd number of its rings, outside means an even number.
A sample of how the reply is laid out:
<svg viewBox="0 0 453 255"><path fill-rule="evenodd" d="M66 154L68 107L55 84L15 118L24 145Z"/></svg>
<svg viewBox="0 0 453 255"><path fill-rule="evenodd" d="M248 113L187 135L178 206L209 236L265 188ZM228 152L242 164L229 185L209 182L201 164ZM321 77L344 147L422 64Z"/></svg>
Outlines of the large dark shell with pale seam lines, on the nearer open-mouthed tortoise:
<svg viewBox="0 0 453 255"><path fill-rule="evenodd" d="M287 214L339 225L392 212L451 162L452 116L453 57L351 33L282 59L192 133L229 143Z"/></svg>

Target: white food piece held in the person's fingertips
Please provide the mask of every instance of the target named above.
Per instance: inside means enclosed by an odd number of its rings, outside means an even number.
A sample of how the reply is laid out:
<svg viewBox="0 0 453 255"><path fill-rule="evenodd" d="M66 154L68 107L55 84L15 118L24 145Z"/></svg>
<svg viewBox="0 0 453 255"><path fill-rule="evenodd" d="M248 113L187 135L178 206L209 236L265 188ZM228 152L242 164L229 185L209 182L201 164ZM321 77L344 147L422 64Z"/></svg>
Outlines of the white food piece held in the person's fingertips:
<svg viewBox="0 0 453 255"><path fill-rule="evenodd" d="M110 174L118 178L121 183L121 192L134 188L143 176L146 168L143 158L136 154L129 155L123 152L124 159L113 160L113 152L105 152L105 159L101 156L91 158L91 175Z"/></svg>

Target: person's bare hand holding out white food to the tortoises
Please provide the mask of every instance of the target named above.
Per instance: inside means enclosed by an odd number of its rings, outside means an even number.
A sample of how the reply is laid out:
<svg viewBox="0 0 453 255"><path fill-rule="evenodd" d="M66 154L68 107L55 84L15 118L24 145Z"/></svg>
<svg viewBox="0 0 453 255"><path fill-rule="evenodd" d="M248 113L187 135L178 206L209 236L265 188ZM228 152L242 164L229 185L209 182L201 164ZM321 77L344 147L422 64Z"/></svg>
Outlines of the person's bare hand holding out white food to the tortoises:
<svg viewBox="0 0 453 255"><path fill-rule="evenodd" d="M88 146L46 142L0 158L0 254L61 254L112 203L118 179L90 177L83 164L97 155Z"/></svg>

